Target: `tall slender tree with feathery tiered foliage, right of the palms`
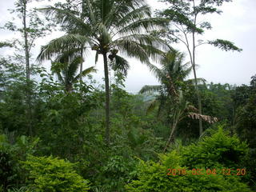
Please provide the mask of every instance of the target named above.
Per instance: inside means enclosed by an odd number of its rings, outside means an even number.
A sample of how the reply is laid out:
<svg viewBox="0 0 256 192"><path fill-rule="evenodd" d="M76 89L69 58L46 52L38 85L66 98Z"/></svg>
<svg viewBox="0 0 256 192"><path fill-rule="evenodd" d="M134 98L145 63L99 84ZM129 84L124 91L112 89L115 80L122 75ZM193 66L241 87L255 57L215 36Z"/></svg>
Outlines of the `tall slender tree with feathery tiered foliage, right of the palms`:
<svg viewBox="0 0 256 192"><path fill-rule="evenodd" d="M214 41L198 39L205 30L212 29L210 22L200 20L200 16L206 14L221 14L218 6L222 6L223 2L230 0L162 0L167 2L169 8L159 11L158 14L170 18L169 30L162 30L160 35L167 38L170 42L182 42L186 46L186 50L190 56L190 63L194 74L194 86L198 98L199 114L202 114L202 101L200 91L198 90L198 80L196 73L196 48L204 44L217 46L222 50L241 51L233 42L216 39ZM202 134L202 119L199 118L199 134Z"/></svg>

